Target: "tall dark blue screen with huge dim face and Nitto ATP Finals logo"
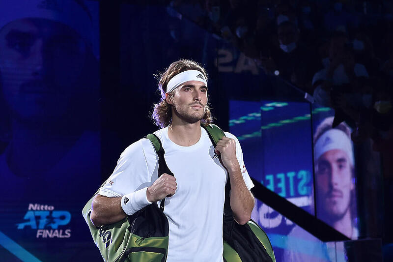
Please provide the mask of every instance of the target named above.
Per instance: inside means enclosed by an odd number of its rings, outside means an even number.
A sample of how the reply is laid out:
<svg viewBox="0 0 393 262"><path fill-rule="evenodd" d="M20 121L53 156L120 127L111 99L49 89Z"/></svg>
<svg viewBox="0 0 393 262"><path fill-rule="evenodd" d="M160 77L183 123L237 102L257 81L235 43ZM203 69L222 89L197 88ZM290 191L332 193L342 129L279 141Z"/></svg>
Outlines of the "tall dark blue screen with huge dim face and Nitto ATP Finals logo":
<svg viewBox="0 0 393 262"><path fill-rule="evenodd" d="M99 261L80 215L101 173L98 2L0 3L0 260Z"/></svg>

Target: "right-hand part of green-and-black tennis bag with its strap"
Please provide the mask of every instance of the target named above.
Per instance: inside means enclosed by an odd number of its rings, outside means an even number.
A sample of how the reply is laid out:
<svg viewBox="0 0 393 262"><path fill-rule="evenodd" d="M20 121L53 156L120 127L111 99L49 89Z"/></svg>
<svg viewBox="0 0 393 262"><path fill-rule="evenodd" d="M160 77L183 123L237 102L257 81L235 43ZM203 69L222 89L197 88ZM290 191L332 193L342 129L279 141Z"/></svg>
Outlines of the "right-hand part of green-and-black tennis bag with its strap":
<svg viewBox="0 0 393 262"><path fill-rule="evenodd" d="M203 126L209 134L213 146L225 136L220 127L214 124ZM230 182L225 184L224 203L224 261L225 262L276 262L273 247L267 234L259 225L250 220L244 225L239 225L233 219L229 203Z"/></svg>

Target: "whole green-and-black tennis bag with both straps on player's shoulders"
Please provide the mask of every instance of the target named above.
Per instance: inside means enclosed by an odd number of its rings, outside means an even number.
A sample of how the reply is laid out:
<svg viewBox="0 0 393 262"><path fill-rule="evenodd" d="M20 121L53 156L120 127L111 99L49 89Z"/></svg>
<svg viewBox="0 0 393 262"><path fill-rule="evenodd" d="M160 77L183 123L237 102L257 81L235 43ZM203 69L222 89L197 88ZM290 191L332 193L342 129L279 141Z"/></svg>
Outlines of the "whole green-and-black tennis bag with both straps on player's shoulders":
<svg viewBox="0 0 393 262"><path fill-rule="evenodd" d="M216 125L204 127L214 146L225 135ZM173 175L164 158L164 148L154 134L146 136L158 154L158 174ZM104 183L105 184L105 183ZM103 185L104 185L103 184ZM225 262L276 262L272 245L266 233L250 220L237 224L229 204L229 179L225 185L224 204L224 252ZM106 226L95 227L90 219L92 202L96 194L84 206L84 219L90 228L94 242L106 262L165 262L168 251L168 219L163 213L165 198L160 207L156 203L140 209L125 219Z"/></svg>

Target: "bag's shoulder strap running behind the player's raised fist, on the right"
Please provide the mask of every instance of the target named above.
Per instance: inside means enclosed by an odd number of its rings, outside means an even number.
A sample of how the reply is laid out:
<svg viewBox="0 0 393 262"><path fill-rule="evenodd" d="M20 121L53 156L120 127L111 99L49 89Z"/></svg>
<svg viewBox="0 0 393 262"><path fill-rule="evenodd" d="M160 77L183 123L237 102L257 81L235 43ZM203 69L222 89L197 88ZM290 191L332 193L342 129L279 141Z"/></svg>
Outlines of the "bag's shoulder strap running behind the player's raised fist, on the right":
<svg viewBox="0 0 393 262"><path fill-rule="evenodd" d="M220 139L225 137L223 130L215 124L209 124L207 126L202 125L202 127L209 134L209 138L210 138L214 147L217 146L217 143L220 141ZM220 158L220 162L221 162L221 158ZM221 162L221 164L223 165L222 162ZM230 193L230 182L229 182L229 177L228 177L226 179L226 184L225 184L225 203L224 203L224 220L225 221L232 221L233 220L232 208L230 207L230 202L229 202L229 200L230 200L229 193Z"/></svg>

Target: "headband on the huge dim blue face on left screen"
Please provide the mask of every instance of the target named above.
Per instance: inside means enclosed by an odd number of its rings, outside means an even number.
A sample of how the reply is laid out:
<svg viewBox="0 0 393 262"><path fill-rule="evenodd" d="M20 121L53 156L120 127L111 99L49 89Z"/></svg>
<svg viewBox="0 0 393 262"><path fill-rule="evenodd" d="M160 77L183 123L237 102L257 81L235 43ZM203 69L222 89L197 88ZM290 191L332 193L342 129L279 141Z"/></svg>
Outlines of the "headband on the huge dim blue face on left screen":
<svg viewBox="0 0 393 262"><path fill-rule="evenodd" d="M75 0L2 0L0 10L0 29L19 19L44 18L69 26L88 44L93 44L88 10L84 10Z"/></svg>

